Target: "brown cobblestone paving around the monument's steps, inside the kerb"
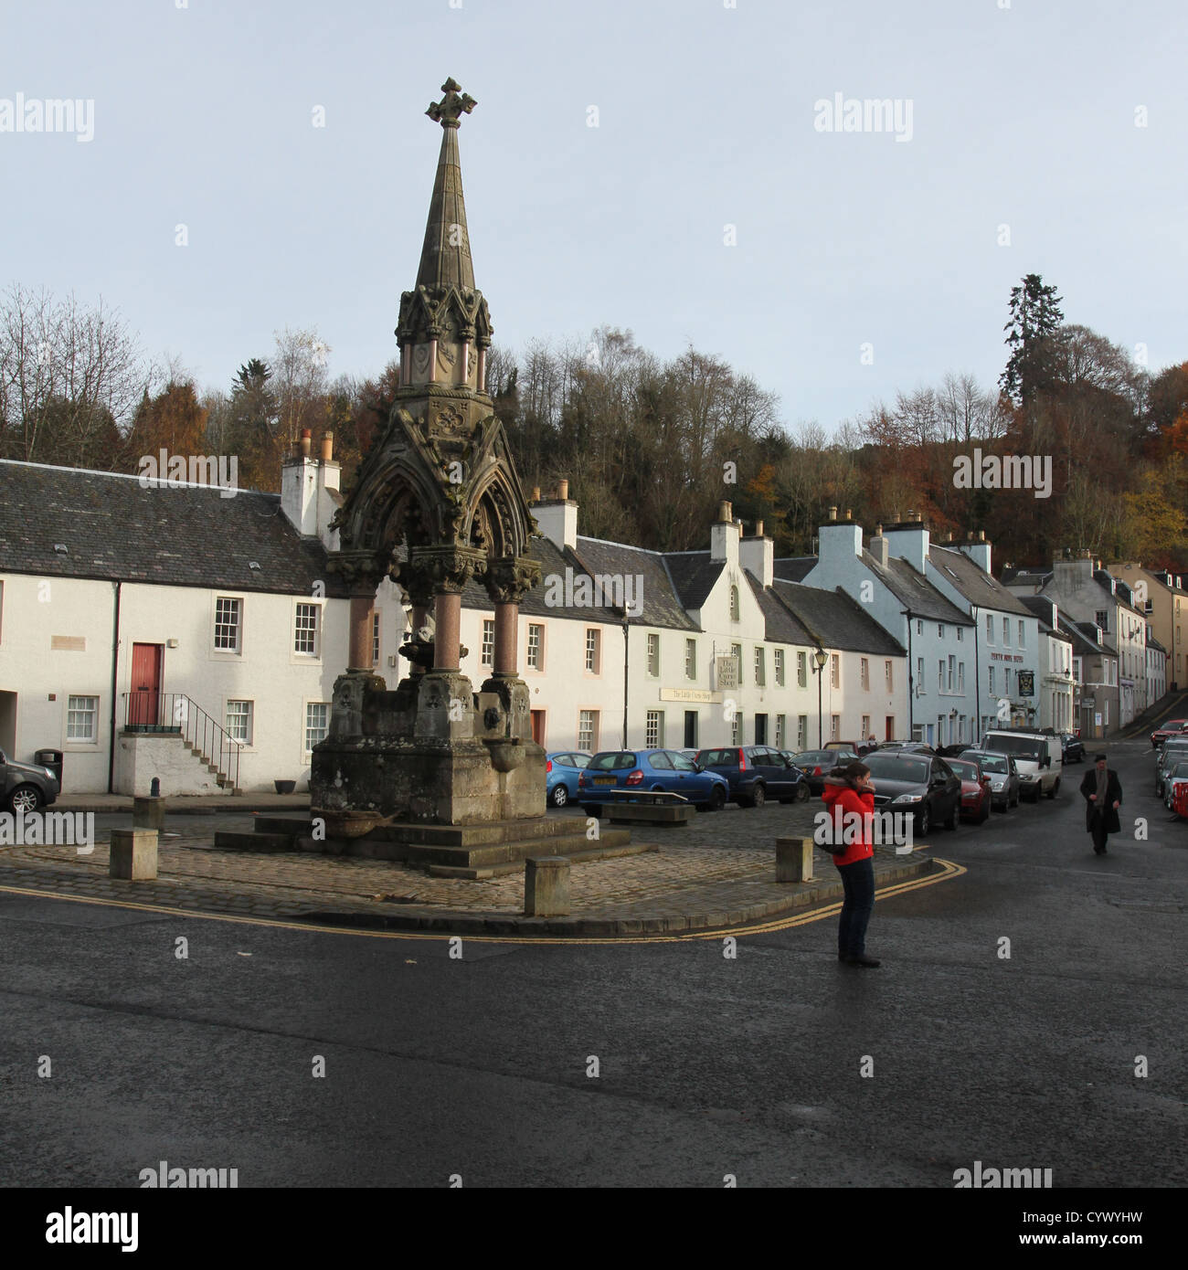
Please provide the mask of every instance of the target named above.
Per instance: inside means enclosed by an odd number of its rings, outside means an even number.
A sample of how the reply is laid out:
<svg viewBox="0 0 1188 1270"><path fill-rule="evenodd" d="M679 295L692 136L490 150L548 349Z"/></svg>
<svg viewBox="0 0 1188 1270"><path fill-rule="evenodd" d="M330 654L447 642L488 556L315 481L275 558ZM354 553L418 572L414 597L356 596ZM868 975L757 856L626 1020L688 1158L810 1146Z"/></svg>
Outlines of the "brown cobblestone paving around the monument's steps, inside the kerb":
<svg viewBox="0 0 1188 1270"><path fill-rule="evenodd" d="M741 911L789 898L794 889L778 884L775 839L812 833L820 804L727 809L699 815L685 828L637 829L633 841L657 843L658 851L611 860L576 862L570 875L573 916L675 917L681 913ZM581 823L581 814L572 818ZM314 911L405 912L457 911L515 917L523 911L523 875L483 881L431 878L396 861L305 853L215 851L213 831L166 822L159 846L156 881L128 883L108 876L108 842L97 841L90 855L72 846L0 848L0 885L41 886L94 898L168 907L291 917ZM220 817L220 828L250 829ZM108 837L102 831L98 838ZM891 856L887 864L894 861ZM902 862L902 861L900 861ZM823 853L814 869L818 881L836 883ZM41 881L38 881L41 879Z"/></svg>

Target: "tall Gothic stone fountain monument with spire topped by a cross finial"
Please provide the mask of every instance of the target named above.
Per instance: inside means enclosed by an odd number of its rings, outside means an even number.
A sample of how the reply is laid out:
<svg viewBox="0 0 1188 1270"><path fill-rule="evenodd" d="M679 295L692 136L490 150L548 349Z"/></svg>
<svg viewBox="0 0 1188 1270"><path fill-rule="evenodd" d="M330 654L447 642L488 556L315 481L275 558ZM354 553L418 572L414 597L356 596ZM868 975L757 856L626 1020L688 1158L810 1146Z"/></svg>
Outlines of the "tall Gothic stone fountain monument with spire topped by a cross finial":
<svg viewBox="0 0 1188 1270"><path fill-rule="evenodd" d="M517 671L520 603L540 565L487 391L490 315L474 284L457 147L461 117L476 103L452 79L442 91L426 112L441 124L441 154L417 282L400 297L396 400L333 522L339 550L329 568L349 589L351 649L329 733L314 747L310 791L325 850L474 875L483 861L565 850L553 839L574 837L576 826L544 814L545 756ZM412 606L402 649L410 673L394 691L371 663L385 575ZM493 673L478 691L460 669L470 579L494 608Z"/></svg>

